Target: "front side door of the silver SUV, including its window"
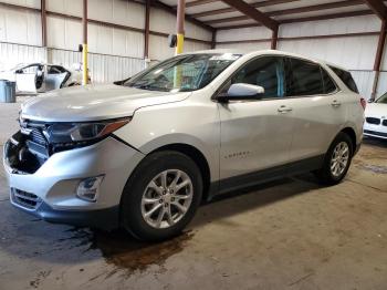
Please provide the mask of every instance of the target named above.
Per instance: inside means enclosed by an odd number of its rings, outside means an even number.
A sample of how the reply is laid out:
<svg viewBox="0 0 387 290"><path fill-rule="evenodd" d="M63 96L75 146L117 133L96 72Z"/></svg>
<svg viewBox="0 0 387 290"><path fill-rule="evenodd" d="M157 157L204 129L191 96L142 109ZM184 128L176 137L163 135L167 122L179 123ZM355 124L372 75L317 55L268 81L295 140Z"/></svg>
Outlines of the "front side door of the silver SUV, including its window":
<svg viewBox="0 0 387 290"><path fill-rule="evenodd" d="M281 165L289 162L293 135L293 112L291 101L285 97L283 58L260 56L250 61L231 77L221 93L232 83L260 85L264 94L257 101L219 103L220 179L243 180L254 178L254 173L268 168L283 169ZM243 183L247 185L249 180Z"/></svg>

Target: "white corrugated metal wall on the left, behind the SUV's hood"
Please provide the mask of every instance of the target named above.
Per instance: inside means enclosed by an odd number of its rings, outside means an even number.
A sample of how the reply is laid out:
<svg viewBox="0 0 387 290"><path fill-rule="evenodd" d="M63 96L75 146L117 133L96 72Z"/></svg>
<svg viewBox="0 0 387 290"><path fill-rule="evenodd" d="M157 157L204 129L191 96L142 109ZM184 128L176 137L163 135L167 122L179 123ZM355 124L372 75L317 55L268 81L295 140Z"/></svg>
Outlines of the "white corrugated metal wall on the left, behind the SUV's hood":
<svg viewBox="0 0 387 290"><path fill-rule="evenodd" d="M40 9L40 0L1 0L12 4ZM80 0L46 0L48 11L82 17ZM163 33L175 31L176 18L164 10L153 8L150 30ZM93 20L128 25L145 27L145 7L123 0L88 1L88 18ZM81 21L48 15L48 46L40 48L41 19L39 12L0 7L0 70L18 63L52 62L71 68L81 62L77 52L82 43ZM210 41L211 32L186 23L186 35ZM13 44L17 43L17 44ZM185 51L210 49L209 44L186 41ZM93 82L112 82L128 77L145 68L144 34L142 32L88 23L90 72ZM164 60L174 55L167 38L149 37L149 56Z"/></svg>

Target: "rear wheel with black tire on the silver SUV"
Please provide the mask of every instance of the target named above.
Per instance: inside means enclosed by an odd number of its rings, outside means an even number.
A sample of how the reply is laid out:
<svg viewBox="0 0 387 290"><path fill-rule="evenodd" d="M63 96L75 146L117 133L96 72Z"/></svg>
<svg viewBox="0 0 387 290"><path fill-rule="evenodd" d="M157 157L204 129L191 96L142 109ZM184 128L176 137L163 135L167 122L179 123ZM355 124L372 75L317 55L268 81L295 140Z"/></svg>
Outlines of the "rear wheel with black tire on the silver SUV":
<svg viewBox="0 0 387 290"><path fill-rule="evenodd" d="M341 148L343 148L342 153L345 152L344 148L347 148L347 160L345 163L345 166L343 163L338 162L339 167L337 169L337 167L333 165L335 163L334 158L337 158L336 153L341 155L341 153L338 153L336 149L341 151ZM315 172L318 182L324 185L336 185L341 183L348 172L353 155L354 145L351 137L343 132L338 133L335 139L332 142L327 153L325 154L323 167L320 170ZM343 154L343 157L345 156L346 154ZM344 159L341 160L344 162Z"/></svg>

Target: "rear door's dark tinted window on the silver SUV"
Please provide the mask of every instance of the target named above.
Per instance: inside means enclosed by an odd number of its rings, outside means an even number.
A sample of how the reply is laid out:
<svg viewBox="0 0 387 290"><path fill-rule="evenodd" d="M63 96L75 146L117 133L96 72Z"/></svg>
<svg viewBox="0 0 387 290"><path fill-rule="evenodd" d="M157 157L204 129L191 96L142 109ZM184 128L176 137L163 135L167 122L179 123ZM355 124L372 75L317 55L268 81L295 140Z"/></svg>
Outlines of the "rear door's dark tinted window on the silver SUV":
<svg viewBox="0 0 387 290"><path fill-rule="evenodd" d="M297 59L290 59L291 80L289 82L289 95L316 95L324 94L324 84L318 64Z"/></svg>

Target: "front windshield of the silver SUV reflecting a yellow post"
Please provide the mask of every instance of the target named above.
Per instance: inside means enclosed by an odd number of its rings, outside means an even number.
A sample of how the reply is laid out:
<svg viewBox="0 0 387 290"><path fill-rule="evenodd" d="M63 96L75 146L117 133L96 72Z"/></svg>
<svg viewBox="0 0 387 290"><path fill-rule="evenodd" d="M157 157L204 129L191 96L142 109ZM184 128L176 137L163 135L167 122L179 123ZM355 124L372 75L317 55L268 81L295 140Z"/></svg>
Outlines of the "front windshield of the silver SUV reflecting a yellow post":
<svg viewBox="0 0 387 290"><path fill-rule="evenodd" d="M191 92L205 87L240 54L188 54L168 59L135 75L123 85L163 92Z"/></svg>

